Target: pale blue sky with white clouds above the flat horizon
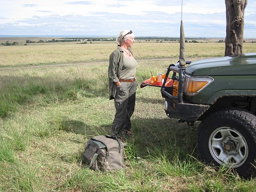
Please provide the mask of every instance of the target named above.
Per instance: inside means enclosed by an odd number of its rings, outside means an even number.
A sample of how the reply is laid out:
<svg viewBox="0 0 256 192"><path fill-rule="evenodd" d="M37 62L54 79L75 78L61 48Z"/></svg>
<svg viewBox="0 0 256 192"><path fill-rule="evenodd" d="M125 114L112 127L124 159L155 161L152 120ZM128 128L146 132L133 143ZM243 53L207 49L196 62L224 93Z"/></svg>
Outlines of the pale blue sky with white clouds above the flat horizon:
<svg viewBox="0 0 256 192"><path fill-rule="evenodd" d="M0 35L225 38L224 0L1 0ZM181 14L182 10L182 14ZM244 38L256 38L256 0L245 9Z"/></svg>

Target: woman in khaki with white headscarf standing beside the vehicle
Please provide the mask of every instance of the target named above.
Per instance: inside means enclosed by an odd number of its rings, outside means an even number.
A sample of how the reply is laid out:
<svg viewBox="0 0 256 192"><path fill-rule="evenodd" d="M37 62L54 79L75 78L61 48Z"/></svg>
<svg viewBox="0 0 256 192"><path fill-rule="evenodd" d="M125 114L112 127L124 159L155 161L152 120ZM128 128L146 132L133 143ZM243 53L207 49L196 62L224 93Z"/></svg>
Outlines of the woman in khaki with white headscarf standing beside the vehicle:
<svg viewBox="0 0 256 192"><path fill-rule="evenodd" d="M117 38L117 48L109 56L108 79L109 100L114 99L115 117L112 134L121 137L131 135L131 120L135 109L135 95L138 82L135 78L137 62L131 46L135 35L131 30L122 30Z"/></svg>

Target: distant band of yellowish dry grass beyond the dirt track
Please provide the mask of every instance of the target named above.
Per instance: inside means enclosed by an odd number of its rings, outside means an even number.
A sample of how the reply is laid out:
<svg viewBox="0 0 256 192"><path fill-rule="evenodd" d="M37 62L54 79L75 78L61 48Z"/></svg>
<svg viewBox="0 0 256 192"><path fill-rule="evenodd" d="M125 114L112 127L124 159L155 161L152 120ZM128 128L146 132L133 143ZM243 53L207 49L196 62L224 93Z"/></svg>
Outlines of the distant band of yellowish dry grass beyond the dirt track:
<svg viewBox="0 0 256 192"><path fill-rule="evenodd" d="M224 55L224 46L224 43L214 42L187 43L186 57L188 60L191 57L221 57ZM107 61L115 47L114 42L83 45L45 43L27 46L0 46L0 67ZM255 51L256 44L243 44L244 53ZM133 46L133 53L136 59L179 58L179 44L175 42L136 42Z"/></svg>

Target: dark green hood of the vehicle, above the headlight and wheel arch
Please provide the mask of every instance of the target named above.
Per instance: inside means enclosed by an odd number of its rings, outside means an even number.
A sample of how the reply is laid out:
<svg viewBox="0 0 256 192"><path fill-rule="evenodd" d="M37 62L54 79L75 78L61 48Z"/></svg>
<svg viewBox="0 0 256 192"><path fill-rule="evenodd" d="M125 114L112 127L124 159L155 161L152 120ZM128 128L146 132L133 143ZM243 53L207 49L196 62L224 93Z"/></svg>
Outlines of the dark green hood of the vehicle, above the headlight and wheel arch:
<svg viewBox="0 0 256 192"><path fill-rule="evenodd" d="M191 76L256 75L256 53L194 61L185 73Z"/></svg>

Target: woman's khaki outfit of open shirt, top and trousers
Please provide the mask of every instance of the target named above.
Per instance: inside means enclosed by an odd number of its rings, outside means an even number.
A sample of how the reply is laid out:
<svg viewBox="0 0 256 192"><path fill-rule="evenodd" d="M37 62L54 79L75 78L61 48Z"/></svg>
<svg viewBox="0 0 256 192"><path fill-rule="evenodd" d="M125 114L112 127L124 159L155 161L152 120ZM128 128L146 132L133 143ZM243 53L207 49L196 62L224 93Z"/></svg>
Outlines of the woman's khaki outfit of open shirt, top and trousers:
<svg viewBox="0 0 256 192"><path fill-rule="evenodd" d="M125 79L134 78L136 67L136 60L134 58L126 60L124 51L120 46L118 46L109 56L109 100L114 99L115 104L112 134L117 135L118 137L121 137L124 129L129 131L131 129L130 118L135 109L138 82L137 80L135 80L135 82L120 82L121 84L119 87L115 85L115 82L119 82L119 78L122 78L122 76Z"/></svg>

